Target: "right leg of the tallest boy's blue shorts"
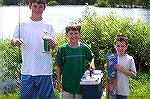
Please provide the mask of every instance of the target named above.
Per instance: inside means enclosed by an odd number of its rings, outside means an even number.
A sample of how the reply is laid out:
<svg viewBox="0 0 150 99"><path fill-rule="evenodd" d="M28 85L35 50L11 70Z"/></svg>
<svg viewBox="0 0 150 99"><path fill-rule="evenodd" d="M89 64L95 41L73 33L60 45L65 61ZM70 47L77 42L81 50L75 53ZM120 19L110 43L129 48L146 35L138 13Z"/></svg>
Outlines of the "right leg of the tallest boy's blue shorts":
<svg viewBox="0 0 150 99"><path fill-rule="evenodd" d="M40 99L55 99L51 75L40 75L36 78L37 96Z"/></svg>

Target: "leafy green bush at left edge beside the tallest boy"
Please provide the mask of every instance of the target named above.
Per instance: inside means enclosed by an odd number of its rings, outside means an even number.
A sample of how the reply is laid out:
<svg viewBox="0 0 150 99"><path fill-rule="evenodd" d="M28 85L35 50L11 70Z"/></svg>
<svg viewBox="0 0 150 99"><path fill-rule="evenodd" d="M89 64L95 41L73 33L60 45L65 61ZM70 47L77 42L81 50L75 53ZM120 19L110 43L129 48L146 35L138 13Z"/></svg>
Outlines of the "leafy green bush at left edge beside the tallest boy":
<svg viewBox="0 0 150 99"><path fill-rule="evenodd" d="M3 81L17 79L19 77L19 67L21 64L21 53L18 47L13 47L10 40L0 41L0 51L2 52L2 72Z"/></svg>

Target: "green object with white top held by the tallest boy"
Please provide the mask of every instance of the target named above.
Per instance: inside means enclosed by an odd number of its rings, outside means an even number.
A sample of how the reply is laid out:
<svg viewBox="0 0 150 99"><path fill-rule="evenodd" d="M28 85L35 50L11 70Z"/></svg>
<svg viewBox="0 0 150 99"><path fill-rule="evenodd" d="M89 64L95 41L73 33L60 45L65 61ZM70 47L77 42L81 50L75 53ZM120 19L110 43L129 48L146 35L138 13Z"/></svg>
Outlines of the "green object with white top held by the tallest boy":
<svg viewBox="0 0 150 99"><path fill-rule="evenodd" d="M53 39L52 37L50 37L51 33L49 33L48 31L43 31L44 32L44 36L43 36L43 41L44 41L44 51L43 53L50 53L50 45L48 43L49 39Z"/></svg>

